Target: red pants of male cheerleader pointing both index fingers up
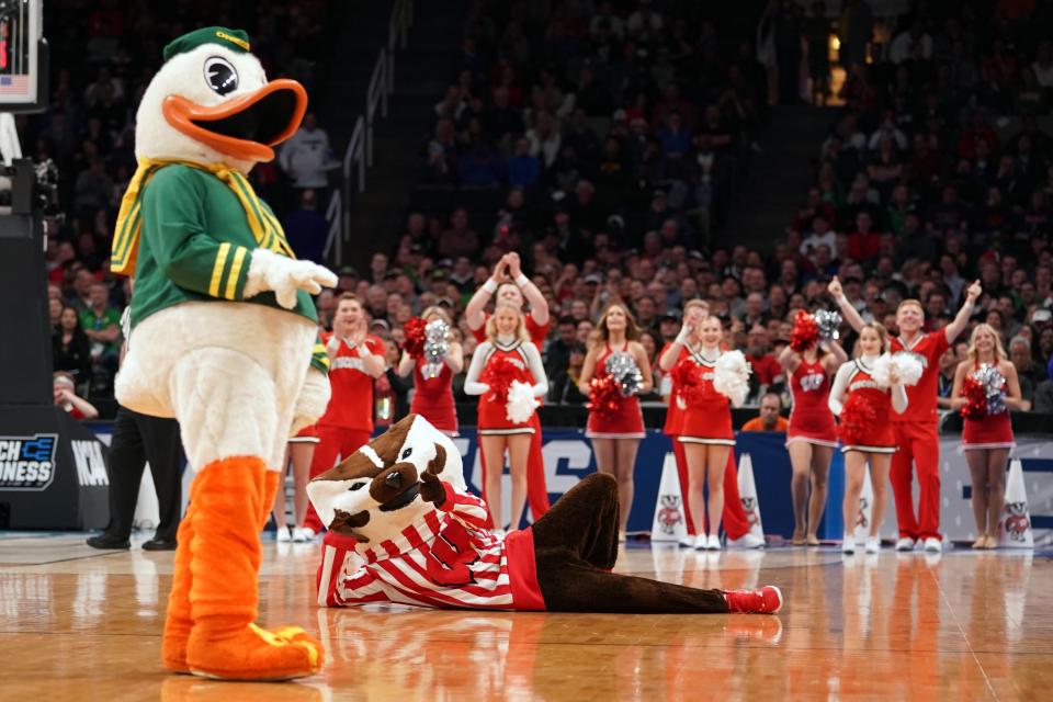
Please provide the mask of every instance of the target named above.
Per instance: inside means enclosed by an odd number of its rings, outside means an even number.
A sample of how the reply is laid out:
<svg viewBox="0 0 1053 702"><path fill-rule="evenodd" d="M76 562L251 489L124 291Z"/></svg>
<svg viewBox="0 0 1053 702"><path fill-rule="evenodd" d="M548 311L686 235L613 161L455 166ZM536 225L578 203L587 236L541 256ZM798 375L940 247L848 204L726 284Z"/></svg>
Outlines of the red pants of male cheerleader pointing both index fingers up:
<svg viewBox="0 0 1053 702"><path fill-rule="evenodd" d="M896 452L892 454L888 479L896 500L899 536L942 539L940 535L940 440L936 422L894 422ZM914 516L914 473L918 471L918 516Z"/></svg>

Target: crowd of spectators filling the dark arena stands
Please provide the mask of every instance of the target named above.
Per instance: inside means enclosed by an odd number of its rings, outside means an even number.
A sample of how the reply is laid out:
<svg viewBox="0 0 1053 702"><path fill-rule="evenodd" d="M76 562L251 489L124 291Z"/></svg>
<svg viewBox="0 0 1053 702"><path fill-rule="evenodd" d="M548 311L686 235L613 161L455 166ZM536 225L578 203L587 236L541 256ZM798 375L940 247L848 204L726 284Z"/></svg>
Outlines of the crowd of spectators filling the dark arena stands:
<svg viewBox="0 0 1053 702"><path fill-rule="evenodd" d="M312 8L322 4L263 3L256 33L270 32L285 46L278 55L309 56L273 27L316 26ZM727 343L754 366L756 405L766 392L784 389L774 358L795 312L836 307L826 291L833 275L864 319L892 331L899 301L920 299L936 329L980 279L975 320L1001 335L1029 406L1051 412L1053 43L1041 32L1050 26L1048 5L1029 4L943 4L937 14L916 3L884 42L865 2L848 2L830 19L784 10L778 44L796 42L797 50L779 55L780 99L838 106L823 113L830 128L816 145L814 182L800 208L786 213L785 229L771 231L767 248L752 249L734 244L728 212L739 183L763 168L765 125L778 112L750 42L722 34L704 3L475 2L452 83L435 97L421 145L421 188L445 193L453 206L409 213L389 252L374 253L365 270L338 271L337 294L364 301L372 331L392 342L394 366L407 319L439 304L461 321L496 262L519 252L553 318L550 401L567 404L586 399L575 378L608 303L630 306L654 359L676 336L682 303L703 297L724 321ZM38 156L63 159L71 174L69 216L49 261L56 348L77 370L98 373L113 363L110 310L122 293L99 271L116 199L134 168L137 91L157 65L161 37L180 29L162 9L150 5L149 13L155 21L135 41L107 29L92 38L103 46L116 38L117 49L57 61L77 66L55 86L60 109L22 125L23 140ZM84 26L98 24L86 16ZM847 75L836 95L825 92L830 65L801 50L825 47L830 33L843 37L839 64ZM789 86L788 60L801 76ZM309 179L288 179L283 163L258 169L253 182L290 213L297 247L297 239L317 240L304 233L324 222L310 216L318 196ZM480 210L479 202L494 204ZM93 303L103 297L109 306ZM318 299L324 321L335 298L325 292ZM469 356L475 343L461 326ZM853 337L846 341L851 352ZM960 343L944 359L947 397L962 353ZM409 388L394 373L378 384L397 414Z"/></svg>

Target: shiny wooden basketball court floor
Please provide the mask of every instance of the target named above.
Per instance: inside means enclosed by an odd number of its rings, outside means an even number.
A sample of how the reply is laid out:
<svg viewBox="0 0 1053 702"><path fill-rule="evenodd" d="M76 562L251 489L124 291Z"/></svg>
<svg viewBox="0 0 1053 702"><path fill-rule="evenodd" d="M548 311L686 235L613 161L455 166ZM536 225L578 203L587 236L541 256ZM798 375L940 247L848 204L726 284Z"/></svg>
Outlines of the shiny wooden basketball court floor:
<svg viewBox="0 0 1053 702"><path fill-rule="evenodd" d="M227 683L159 664L172 554L83 534L0 535L0 699L1041 700L1053 694L1053 552L842 557L630 543L618 569L772 584L775 616L485 613L314 604L317 545L264 542L260 622L320 635L322 672Z"/></svg>

